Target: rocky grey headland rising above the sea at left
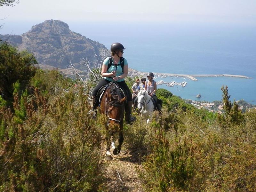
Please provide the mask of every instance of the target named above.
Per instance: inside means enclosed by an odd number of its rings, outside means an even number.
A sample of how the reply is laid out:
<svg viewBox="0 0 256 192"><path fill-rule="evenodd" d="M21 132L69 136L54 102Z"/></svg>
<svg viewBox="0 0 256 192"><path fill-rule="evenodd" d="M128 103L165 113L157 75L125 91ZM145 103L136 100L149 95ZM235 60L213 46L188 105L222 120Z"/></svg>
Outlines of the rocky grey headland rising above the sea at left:
<svg viewBox="0 0 256 192"><path fill-rule="evenodd" d="M93 64L97 57L102 59L100 53L108 52L103 44L69 30L68 25L59 20L46 20L20 36L0 35L0 39L33 53L39 64L56 68L66 68L70 61L79 68L83 57Z"/></svg>

